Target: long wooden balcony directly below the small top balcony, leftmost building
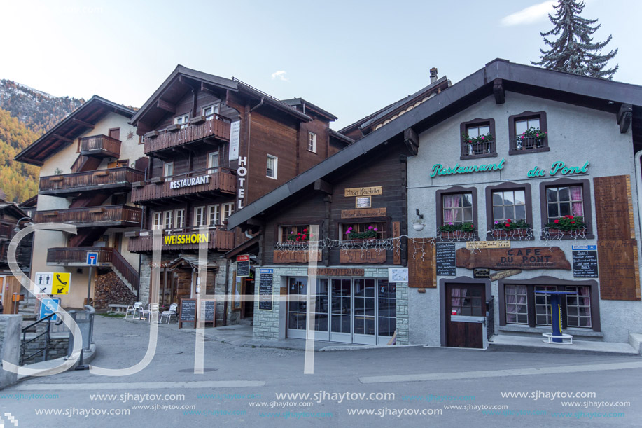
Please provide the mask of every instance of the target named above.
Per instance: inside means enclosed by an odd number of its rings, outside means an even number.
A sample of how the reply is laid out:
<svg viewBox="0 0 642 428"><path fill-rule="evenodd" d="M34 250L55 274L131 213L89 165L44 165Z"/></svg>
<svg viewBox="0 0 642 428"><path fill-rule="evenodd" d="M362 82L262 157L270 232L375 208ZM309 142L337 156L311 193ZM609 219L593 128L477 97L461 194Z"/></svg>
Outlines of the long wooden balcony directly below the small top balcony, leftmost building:
<svg viewBox="0 0 642 428"><path fill-rule="evenodd" d="M40 178L41 195L75 195L86 191L127 190L144 179L144 172L120 167Z"/></svg>

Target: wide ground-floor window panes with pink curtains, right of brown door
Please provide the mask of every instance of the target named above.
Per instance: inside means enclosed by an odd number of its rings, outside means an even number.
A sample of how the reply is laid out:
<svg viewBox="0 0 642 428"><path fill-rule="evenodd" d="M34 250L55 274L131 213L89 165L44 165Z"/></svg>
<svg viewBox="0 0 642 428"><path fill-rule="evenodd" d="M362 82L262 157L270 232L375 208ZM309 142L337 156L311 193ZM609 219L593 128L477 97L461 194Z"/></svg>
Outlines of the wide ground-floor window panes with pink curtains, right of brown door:
<svg viewBox="0 0 642 428"><path fill-rule="evenodd" d="M550 327L551 295L548 292L567 291L570 293L560 296L562 328L600 331L599 297L594 294L596 281L564 281L551 277L522 281L502 279L499 289L502 326Z"/></svg>

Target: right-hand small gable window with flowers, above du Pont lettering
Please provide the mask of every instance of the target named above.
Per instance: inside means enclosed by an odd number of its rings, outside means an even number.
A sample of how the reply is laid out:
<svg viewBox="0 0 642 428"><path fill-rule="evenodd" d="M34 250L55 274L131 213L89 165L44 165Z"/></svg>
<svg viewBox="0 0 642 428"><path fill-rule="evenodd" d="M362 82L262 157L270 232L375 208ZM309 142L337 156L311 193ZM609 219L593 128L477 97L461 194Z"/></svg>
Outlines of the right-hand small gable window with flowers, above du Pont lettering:
<svg viewBox="0 0 642 428"><path fill-rule="evenodd" d="M508 118L509 155L550 151L544 111L524 111Z"/></svg>

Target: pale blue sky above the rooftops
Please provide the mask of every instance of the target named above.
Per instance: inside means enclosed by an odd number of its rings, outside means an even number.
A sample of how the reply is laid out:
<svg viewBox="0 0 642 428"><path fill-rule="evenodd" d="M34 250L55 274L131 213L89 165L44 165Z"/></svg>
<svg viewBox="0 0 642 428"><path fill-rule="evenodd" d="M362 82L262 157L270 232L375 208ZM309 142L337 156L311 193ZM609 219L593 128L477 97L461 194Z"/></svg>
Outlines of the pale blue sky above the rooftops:
<svg viewBox="0 0 642 428"><path fill-rule="evenodd" d="M496 57L529 64L554 1L0 0L0 78L52 95L141 106L176 64L339 116L340 129ZM642 1L587 0L595 40L620 48L615 80L642 84Z"/></svg>

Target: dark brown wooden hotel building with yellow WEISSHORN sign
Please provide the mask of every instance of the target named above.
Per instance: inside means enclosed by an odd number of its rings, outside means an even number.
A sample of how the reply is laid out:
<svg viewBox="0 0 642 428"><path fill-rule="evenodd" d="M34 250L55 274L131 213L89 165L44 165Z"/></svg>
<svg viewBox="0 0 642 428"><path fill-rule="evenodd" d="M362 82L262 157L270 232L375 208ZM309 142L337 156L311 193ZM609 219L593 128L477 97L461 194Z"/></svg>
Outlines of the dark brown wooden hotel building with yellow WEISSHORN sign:
<svg viewBox="0 0 642 428"><path fill-rule="evenodd" d="M256 246L258 237L225 230L225 224L238 209L350 144L330 130L335 119L305 99L279 101L237 79L176 67L131 120L150 158L145 179L132 190L144 226L128 234L130 251L141 254L141 300L151 295L154 229L162 229L162 305L232 289L253 294L253 269L237 279L230 258ZM201 241L208 249L203 286ZM236 322L252 312L252 305L228 308L220 298L216 318L218 324Z"/></svg>

